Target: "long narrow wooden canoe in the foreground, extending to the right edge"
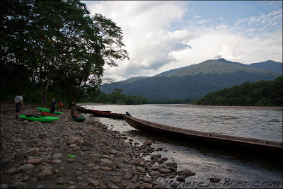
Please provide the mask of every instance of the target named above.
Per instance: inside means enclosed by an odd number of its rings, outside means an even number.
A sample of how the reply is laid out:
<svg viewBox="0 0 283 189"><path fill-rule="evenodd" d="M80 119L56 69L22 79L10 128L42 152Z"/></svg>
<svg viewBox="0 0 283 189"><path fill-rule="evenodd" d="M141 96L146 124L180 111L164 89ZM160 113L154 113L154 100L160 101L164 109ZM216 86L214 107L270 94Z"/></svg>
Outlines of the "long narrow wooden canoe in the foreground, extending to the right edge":
<svg viewBox="0 0 283 189"><path fill-rule="evenodd" d="M178 139L185 139L190 142L209 144L209 146L213 147L228 147L230 149L237 149L237 151L266 152L267 154L265 155L267 156L270 156L270 154L283 154L282 142L186 130L183 128L140 120L129 115L123 115L123 118L129 125L137 130L151 132L158 134L158 136L166 135L167 137L177 137Z"/></svg>

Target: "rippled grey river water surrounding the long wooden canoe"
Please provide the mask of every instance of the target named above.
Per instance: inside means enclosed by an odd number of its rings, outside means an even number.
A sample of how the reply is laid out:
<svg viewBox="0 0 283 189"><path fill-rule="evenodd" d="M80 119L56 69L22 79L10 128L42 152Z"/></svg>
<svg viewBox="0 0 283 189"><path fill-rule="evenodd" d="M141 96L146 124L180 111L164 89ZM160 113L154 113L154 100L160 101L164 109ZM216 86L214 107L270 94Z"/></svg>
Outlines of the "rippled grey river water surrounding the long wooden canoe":
<svg viewBox="0 0 283 189"><path fill-rule="evenodd" d="M163 125L282 142L282 109L91 104L86 105L86 108L110 110L112 113L128 111L134 118ZM151 140L153 147L163 148L163 151L154 153L168 157L168 162L177 162L178 171L189 169L196 173L186 178L185 183L180 183L180 188L282 188L283 167L279 162L148 134L129 126L125 120L98 118L88 114L85 117L126 134L134 142L142 144ZM213 177L221 181L210 183L208 178ZM166 188L171 188L175 178L161 182Z"/></svg>

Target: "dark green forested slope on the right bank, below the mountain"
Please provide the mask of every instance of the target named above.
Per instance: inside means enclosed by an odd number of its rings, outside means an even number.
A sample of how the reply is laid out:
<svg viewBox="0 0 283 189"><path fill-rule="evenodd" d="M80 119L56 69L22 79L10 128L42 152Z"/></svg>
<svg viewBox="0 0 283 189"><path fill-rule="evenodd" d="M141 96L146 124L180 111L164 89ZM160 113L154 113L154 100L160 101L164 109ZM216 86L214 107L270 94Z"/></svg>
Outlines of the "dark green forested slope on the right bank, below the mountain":
<svg viewBox="0 0 283 189"><path fill-rule="evenodd" d="M197 105L282 106L282 76L274 81L246 82L209 93Z"/></svg>

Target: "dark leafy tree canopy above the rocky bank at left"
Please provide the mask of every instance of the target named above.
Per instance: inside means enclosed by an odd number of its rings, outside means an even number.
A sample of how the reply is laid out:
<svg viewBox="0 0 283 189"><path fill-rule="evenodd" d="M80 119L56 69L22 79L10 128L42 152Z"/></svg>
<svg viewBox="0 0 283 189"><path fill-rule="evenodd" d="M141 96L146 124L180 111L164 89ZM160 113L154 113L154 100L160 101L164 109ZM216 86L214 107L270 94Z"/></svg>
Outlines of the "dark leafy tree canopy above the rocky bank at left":
<svg viewBox="0 0 283 189"><path fill-rule="evenodd" d="M76 98L101 84L105 64L129 59L121 28L77 0L1 1L0 27L1 86L8 91L29 84Z"/></svg>

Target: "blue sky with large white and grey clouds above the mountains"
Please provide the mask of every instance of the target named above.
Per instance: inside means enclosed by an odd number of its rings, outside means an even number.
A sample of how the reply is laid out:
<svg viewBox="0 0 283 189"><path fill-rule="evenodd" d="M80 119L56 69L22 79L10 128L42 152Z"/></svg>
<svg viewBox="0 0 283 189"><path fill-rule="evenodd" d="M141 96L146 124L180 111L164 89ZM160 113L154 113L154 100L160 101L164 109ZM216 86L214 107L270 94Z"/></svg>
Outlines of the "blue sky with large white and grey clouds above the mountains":
<svg viewBox="0 0 283 189"><path fill-rule="evenodd" d="M282 1L81 1L122 28L129 60L103 81L154 76L224 58L282 62Z"/></svg>

